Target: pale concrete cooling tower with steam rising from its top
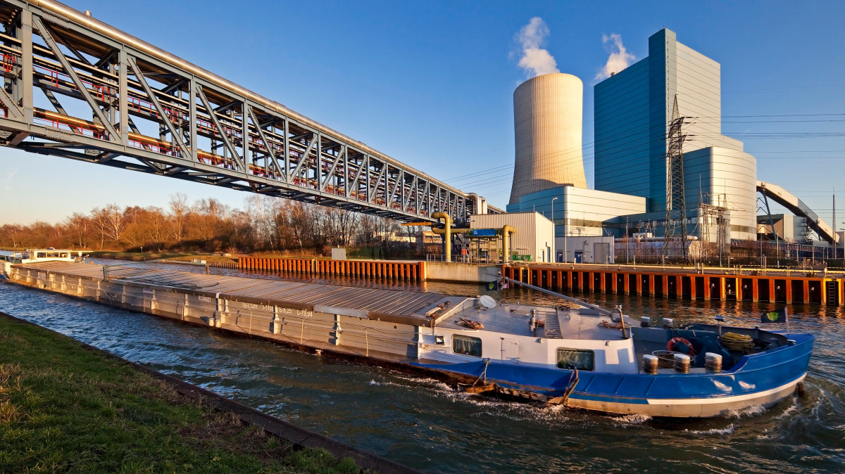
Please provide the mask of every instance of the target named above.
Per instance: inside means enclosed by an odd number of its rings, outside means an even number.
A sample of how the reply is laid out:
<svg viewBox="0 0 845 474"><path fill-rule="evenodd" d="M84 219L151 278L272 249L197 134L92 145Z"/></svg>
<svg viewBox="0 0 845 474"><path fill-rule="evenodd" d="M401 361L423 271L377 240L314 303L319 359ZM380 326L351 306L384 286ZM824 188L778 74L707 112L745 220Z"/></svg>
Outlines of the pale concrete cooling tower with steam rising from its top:
<svg viewBox="0 0 845 474"><path fill-rule="evenodd" d="M510 204L553 187L586 188L581 156L584 84L570 74L543 74L514 91L516 164Z"/></svg>

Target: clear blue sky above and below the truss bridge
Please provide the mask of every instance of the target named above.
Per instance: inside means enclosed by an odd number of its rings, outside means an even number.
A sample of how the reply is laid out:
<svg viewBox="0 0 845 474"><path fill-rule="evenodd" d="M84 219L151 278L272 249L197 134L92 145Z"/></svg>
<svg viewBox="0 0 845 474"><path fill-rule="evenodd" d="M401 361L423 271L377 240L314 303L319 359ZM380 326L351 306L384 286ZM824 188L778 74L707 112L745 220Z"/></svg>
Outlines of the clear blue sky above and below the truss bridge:
<svg viewBox="0 0 845 474"><path fill-rule="evenodd" d="M845 2L65 3L503 208L516 86L555 69L581 78L591 186L592 88L665 27L721 63L722 133L761 134L744 140L758 179L827 222L838 190L845 221ZM166 207L177 191L232 207L248 197L11 148L0 189L0 224Z"/></svg>

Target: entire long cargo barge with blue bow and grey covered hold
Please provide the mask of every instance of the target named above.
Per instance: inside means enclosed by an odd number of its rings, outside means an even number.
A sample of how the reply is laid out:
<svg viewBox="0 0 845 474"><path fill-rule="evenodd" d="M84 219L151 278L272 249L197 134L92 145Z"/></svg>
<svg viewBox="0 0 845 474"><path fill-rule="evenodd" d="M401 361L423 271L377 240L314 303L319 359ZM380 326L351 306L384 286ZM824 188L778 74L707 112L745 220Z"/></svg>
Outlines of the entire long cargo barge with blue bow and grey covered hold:
<svg viewBox="0 0 845 474"><path fill-rule="evenodd" d="M40 252L36 259L50 258ZM9 275L12 283L404 369L471 393L651 417L771 407L803 391L814 342L788 328L718 320L653 324L510 278L564 304L69 261L22 261Z"/></svg>

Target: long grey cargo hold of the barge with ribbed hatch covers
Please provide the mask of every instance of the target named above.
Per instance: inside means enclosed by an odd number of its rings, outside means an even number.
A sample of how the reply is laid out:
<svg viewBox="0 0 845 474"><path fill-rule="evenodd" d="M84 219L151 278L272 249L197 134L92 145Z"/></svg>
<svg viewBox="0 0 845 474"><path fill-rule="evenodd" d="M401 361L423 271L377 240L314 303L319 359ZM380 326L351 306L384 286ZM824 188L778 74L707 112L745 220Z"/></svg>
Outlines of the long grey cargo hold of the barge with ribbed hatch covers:
<svg viewBox="0 0 845 474"><path fill-rule="evenodd" d="M63 261L14 265L12 283L306 350L407 362L433 313L466 297ZM428 329L431 332L432 329Z"/></svg>

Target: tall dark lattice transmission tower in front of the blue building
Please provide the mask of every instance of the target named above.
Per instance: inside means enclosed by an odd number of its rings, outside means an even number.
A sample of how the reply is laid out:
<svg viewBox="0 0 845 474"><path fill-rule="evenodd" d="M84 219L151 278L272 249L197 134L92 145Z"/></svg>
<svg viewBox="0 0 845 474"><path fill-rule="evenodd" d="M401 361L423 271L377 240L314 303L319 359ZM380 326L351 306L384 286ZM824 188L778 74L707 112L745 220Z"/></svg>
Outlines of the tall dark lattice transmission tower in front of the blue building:
<svg viewBox="0 0 845 474"><path fill-rule="evenodd" d="M687 260L686 198L684 196L684 120L678 111L678 95L672 108L672 122L669 124L668 148L666 150L666 236L663 256L673 240L680 240L684 261Z"/></svg>

